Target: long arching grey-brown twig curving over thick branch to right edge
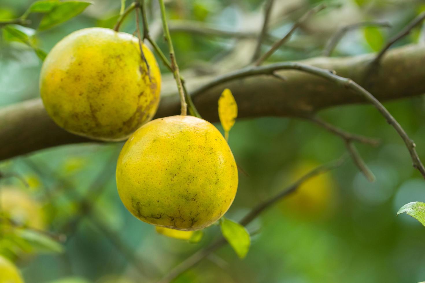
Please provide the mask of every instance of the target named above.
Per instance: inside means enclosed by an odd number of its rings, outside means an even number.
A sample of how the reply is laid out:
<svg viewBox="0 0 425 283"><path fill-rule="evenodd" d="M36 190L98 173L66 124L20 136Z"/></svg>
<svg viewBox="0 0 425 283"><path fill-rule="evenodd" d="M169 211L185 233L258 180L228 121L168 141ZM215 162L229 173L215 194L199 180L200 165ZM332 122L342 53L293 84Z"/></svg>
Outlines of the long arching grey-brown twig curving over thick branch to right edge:
<svg viewBox="0 0 425 283"><path fill-rule="evenodd" d="M321 69L318 67L313 67L313 66L309 66L309 65L297 63L297 62L282 62L282 63L276 63L276 64L269 64L263 67L246 67L244 69L236 70L226 75L219 76L218 78L211 81L210 83L205 84L204 86L192 92L192 96L195 97L199 93L204 92L205 90L211 89L212 87L215 87L227 81L231 81L238 78L245 78L248 76L272 75L277 70L300 70L306 73L310 73L312 75L319 76L319 77L325 78L328 81L334 82L335 84L338 84L341 87L345 87L346 89L351 90L357 93L358 95L362 96L363 98L365 98L366 101L370 102L371 104L375 106L375 108L378 109L378 111L387 120L387 122L391 126L393 126L393 128L397 131L397 133L404 141L411 155L414 168L416 168L422 174L422 177L425 178L425 167L422 164L416 152L416 149L415 149L416 145L413 142L413 140L410 139L410 137L402 128L402 126L400 126L397 120L394 119L394 117L390 114L390 112L388 112L388 110L370 92L368 92L359 84L357 84L356 82L354 82L353 80L349 78L343 78L343 77L337 76L334 71Z"/></svg>

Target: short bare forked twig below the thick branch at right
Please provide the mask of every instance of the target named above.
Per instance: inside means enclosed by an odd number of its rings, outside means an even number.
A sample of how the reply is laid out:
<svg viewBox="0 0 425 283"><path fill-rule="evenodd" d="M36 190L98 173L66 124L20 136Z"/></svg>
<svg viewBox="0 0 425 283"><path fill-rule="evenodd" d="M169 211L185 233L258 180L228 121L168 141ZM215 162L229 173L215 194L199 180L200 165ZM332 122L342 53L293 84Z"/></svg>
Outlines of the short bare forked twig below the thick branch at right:
<svg viewBox="0 0 425 283"><path fill-rule="evenodd" d="M375 181L374 174L369 170L366 163L363 161L362 157L358 153L356 147L354 146L354 141L360 142L360 143L366 143L371 146L377 146L380 143L380 140L373 139L370 137L363 137L358 134L352 134L349 132L346 132L342 129L339 129L325 121L323 121L320 118L317 118L315 116L309 117L312 122L316 123L317 125L323 127L327 131L336 134L337 136L341 137L344 140L344 143L346 145L346 148L348 152L350 153L351 159L353 160L354 164L359 168L359 170L365 175L366 179L368 179L369 182Z"/></svg>

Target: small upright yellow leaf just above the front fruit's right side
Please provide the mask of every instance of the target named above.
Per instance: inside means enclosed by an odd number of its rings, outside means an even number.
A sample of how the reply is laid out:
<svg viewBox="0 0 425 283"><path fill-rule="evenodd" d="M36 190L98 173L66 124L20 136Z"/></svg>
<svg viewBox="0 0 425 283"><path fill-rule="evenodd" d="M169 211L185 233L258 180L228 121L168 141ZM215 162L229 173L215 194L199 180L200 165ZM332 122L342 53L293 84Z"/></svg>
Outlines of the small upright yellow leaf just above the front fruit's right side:
<svg viewBox="0 0 425 283"><path fill-rule="evenodd" d="M218 117L221 126L223 126L226 140L229 140L229 131L235 124L236 117L238 117L238 105L228 88L221 93L218 99Z"/></svg>

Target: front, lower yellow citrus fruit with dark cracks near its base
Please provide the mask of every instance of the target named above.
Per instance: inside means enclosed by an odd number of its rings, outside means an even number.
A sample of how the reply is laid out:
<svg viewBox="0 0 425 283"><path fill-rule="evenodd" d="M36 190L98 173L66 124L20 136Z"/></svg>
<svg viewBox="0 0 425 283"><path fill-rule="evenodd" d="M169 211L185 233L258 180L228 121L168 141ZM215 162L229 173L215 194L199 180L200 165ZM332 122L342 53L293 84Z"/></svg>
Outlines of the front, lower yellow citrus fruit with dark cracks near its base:
<svg viewBox="0 0 425 283"><path fill-rule="evenodd" d="M211 123L172 116L150 121L127 140L116 184L125 207L140 220L190 231L211 225L229 209L238 171Z"/></svg>

